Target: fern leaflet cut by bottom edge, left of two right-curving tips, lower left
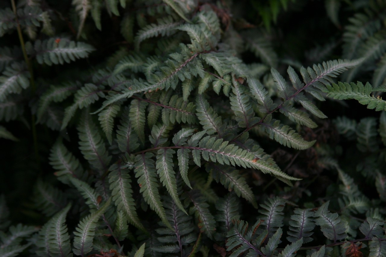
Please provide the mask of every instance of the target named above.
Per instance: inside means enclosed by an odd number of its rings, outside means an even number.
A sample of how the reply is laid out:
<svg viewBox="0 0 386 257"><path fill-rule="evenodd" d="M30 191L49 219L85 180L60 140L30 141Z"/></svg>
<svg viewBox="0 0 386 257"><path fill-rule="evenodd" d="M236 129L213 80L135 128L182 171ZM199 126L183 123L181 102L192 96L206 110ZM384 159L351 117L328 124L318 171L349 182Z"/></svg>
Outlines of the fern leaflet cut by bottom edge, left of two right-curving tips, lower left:
<svg viewBox="0 0 386 257"><path fill-rule="evenodd" d="M41 248L37 252L39 256L71 256L70 236L66 225L66 216L70 208L71 205L67 205L41 228L37 241L37 246Z"/></svg>

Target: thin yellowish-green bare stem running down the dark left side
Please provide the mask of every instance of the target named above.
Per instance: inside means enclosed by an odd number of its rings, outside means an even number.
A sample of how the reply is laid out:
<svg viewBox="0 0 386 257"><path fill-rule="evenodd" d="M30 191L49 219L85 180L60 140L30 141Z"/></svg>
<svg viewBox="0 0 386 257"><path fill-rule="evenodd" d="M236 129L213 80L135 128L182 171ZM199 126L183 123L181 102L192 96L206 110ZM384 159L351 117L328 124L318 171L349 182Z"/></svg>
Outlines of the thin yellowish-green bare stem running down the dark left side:
<svg viewBox="0 0 386 257"><path fill-rule="evenodd" d="M32 70L32 64L29 61L28 56L27 56L27 51L25 50L25 44L24 44L22 29L20 28L19 18L17 17L15 0L11 0L11 4L12 4L12 9L14 10L15 19L16 19L16 23L17 23L17 34L19 35L20 46L22 47L25 64L27 64L27 68L29 71L29 76L30 76L29 82L31 85L32 95L34 95L36 92L36 84L35 84L35 80L34 80L34 72ZM35 115L34 114L32 114L32 117L31 117L31 127L32 127L32 137L34 140L35 158L36 158L36 162L37 162L38 166L40 166L39 151L37 148L37 133L36 133Z"/></svg>

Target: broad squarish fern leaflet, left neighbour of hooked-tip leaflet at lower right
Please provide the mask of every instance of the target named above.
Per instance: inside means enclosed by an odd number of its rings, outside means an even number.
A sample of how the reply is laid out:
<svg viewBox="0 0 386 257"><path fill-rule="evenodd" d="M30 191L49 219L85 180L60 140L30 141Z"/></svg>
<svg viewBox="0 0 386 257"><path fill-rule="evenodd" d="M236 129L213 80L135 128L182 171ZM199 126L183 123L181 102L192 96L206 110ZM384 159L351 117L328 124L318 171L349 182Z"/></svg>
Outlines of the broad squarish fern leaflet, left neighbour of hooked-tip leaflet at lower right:
<svg viewBox="0 0 386 257"><path fill-rule="evenodd" d="M294 213L294 215L291 215L291 221L289 221L287 240L289 242L295 242L303 238L304 243L311 242L313 240L311 238L313 234L312 231L315 228L313 212L311 209L301 210L296 208Z"/></svg>

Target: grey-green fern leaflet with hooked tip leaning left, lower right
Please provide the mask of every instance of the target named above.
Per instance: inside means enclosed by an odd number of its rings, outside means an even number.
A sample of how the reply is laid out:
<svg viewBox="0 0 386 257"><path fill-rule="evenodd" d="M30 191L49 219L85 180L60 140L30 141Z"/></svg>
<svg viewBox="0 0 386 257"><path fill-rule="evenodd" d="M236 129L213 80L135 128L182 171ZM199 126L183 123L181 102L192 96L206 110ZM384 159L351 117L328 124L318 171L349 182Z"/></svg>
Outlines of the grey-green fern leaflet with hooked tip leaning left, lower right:
<svg viewBox="0 0 386 257"><path fill-rule="evenodd" d="M347 235L345 233L346 229L344 225L340 222L338 213L330 213L328 211L329 201L324 203L322 206L315 211L315 220L316 225L320 226L323 235L330 240L333 240L334 243L337 240L345 238Z"/></svg>

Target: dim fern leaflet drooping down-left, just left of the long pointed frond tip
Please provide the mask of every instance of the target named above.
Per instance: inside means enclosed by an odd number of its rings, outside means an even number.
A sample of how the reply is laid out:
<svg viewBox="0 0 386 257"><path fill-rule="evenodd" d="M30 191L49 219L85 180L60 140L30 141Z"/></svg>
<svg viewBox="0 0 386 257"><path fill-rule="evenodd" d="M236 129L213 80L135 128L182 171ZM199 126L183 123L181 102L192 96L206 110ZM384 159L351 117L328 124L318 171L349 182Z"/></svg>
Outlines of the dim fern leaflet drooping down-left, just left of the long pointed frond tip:
<svg viewBox="0 0 386 257"><path fill-rule="evenodd" d="M74 103L64 110L61 130L67 127L69 121L75 115L76 110L88 107L100 97L105 96L102 92L102 88L103 86L98 87L94 84L85 84L82 88L76 91L74 95Z"/></svg>

